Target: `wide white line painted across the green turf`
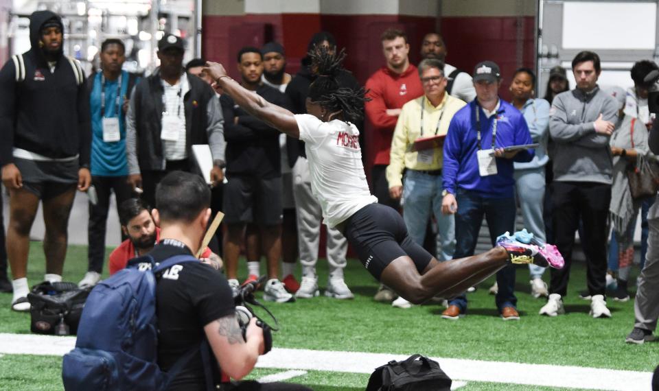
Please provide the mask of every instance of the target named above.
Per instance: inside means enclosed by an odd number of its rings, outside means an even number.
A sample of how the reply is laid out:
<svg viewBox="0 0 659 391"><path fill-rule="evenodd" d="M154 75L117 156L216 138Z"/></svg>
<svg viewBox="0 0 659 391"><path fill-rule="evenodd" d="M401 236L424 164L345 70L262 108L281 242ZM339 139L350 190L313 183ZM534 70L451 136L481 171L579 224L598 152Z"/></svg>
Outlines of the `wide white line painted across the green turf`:
<svg viewBox="0 0 659 391"><path fill-rule="evenodd" d="M75 343L75 337L0 333L0 354L64 355ZM406 358L406 355L386 353L273 348L273 351L259 358L257 367L371 373L375 368L392 359ZM491 381L591 390L647 391L651 389L651 372L432 358L439 362L441 368L452 379L463 381Z"/></svg>

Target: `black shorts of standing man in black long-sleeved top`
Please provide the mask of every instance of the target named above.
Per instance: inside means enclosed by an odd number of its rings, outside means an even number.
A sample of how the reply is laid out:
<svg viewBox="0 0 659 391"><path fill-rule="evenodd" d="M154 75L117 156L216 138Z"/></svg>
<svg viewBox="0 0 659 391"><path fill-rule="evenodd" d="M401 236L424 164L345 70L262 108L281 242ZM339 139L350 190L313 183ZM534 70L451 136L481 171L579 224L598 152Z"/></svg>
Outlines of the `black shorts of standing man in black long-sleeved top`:
<svg viewBox="0 0 659 391"><path fill-rule="evenodd" d="M227 224L281 224L281 177L227 176L222 209Z"/></svg>

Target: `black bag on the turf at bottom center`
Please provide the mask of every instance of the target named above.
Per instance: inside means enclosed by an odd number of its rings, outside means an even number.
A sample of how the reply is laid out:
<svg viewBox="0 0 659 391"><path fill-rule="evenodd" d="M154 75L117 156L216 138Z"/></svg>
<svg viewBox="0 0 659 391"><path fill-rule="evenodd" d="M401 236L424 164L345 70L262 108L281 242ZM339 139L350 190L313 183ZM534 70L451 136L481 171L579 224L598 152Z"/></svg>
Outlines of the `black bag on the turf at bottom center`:
<svg viewBox="0 0 659 391"><path fill-rule="evenodd" d="M375 369L366 391L450 391L451 379L436 361L411 355Z"/></svg>

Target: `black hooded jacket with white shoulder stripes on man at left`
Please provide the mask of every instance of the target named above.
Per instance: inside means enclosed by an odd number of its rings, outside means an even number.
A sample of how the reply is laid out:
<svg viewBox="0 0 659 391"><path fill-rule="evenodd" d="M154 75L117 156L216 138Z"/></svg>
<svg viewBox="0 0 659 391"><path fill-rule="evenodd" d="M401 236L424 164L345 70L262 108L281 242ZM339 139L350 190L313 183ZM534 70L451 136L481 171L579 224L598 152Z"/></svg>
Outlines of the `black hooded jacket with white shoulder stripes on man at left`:
<svg viewBox="0 0 659 391"><path fill-rule="evenodd" d="M62 25L54 12L37 11L30 16L32 47L22 54L25 80L16 80L13 60L0 70L0 166L14 161L14 147L48 158L79 155L80 165L89 166L91 128L86 88L61 48L51 73L39 47L41 27L51 19Z"/></svg>

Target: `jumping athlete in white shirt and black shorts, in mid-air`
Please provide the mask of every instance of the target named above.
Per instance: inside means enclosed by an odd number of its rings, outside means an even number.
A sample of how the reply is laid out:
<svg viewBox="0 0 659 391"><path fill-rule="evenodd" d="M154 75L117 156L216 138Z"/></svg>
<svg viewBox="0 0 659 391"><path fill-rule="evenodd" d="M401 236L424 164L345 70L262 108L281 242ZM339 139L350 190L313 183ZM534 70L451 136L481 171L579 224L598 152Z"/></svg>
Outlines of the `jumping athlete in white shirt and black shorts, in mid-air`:
<svg viewBox="0 0 659 391"><path fill-rule="evenodd" d="M435 295L450 297L474 286L508 263L563 267L563 257L551 244L544 244L523 230L501 235L497 246L483 254L439 262L408 236L400 214L378 204L367 185L354 121L362 113L365 91L340 88L345 52L315 47L310 53L319 77L311 84L306 100L308 114L270 104L231 79L222 64L207 62L205 71L213 86L231 96L251 115L290 137L305 142L312 191L321 203L325 224L338 228L358 253L365 268L378 281L411 303ZM502 148L495 156L503 156Z"/></svg>

